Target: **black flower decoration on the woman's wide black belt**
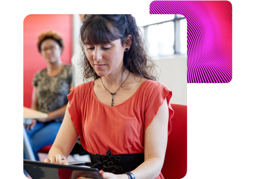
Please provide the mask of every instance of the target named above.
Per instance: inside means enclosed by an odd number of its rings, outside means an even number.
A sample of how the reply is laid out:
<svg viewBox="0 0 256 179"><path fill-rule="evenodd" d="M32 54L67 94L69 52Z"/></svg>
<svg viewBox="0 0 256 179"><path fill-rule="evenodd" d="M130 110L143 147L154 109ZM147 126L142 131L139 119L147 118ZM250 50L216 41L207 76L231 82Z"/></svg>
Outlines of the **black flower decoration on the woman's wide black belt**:
<svg viewBox="0 0 256 179"><path fill-rule="evenodd" d="M92 168L98 168L99 170L103 170L104 172L111 172L114 174L118 174L124 172L121 167L118 167L116 164L119 163L121 157L112 156L110 149L107 150L107 155L96 154L99 161Z"/></svg>

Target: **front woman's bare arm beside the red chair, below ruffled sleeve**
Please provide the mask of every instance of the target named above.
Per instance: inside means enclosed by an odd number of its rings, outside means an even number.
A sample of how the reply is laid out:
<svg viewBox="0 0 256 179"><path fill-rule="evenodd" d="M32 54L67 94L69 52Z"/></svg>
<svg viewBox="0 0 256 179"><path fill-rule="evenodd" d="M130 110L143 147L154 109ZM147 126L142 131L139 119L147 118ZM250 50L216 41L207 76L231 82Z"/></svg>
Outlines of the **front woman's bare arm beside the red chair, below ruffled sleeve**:
<svg viewBox="0 0 256 179"><path fill-rule="evenodd" d="M145 130L145 161L132 171L136 179L154 179L163 167L168 138L169 109L167 99Z"/></svg>

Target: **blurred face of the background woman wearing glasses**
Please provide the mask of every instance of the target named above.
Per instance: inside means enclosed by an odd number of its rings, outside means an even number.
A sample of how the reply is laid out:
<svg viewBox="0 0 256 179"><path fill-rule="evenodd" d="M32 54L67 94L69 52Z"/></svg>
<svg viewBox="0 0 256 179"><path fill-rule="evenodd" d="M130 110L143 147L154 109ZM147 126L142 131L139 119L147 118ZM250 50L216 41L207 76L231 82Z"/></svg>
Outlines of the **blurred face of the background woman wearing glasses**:
<svg viewBox="0 0 256 179"><path fill-rule="evenodd" d="M62 48L53 39L46 39L41 44L41 54L48 63L60 60Z"/></svg>

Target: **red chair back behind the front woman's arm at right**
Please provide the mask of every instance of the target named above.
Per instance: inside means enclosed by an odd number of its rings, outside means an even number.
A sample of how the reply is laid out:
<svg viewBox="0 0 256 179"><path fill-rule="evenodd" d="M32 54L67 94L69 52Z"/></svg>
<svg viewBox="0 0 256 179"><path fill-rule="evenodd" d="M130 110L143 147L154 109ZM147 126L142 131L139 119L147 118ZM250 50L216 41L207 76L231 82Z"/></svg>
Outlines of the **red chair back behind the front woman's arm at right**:
<svg viewBox="0 0 256 179"><path fill-rule="evenodd" d="M171 104L171 107L174 116L161 172L164 179L183 179L187 175L187 105Z"/></svg>

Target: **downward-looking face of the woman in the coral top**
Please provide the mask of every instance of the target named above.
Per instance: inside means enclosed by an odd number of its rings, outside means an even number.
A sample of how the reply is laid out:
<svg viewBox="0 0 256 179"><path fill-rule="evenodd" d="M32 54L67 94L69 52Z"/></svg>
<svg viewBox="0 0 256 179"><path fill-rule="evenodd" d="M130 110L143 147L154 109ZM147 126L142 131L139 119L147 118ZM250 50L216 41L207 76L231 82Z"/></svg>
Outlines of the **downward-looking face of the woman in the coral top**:
<svg viewBox="0 0 256 179"><path fill-rule="evenodd" d="M85 55L100 77L117 75L123 66L125 48L117 39L106 44L85 45Z"/></svg>

